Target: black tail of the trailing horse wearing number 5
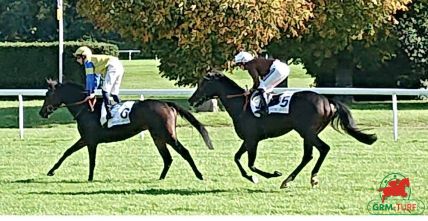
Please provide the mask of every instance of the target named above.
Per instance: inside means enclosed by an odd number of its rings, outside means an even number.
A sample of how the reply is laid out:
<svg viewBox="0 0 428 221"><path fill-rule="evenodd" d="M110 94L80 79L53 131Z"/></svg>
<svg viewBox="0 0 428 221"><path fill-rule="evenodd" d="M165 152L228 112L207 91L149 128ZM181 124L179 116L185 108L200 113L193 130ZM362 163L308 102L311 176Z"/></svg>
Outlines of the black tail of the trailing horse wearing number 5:
<svg viewBox="0 0 428 221"><path fill-rule="evenodd" d="M339 125L347 134L351 135L358 141L365 144L373 144L377 140L376 134L366 134L357 128L354 119L352 118L351 111L340 101L329 99L336 107L336 112L331 119L331 126L339 131Z"/></svg>

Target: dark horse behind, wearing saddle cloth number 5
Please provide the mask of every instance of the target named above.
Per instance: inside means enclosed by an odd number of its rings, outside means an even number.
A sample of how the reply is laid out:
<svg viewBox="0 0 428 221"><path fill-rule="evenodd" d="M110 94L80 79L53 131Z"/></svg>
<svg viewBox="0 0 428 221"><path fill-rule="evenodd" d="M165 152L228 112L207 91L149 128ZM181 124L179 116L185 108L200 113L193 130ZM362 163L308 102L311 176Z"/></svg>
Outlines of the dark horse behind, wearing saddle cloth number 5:
<svg viewBox="0 0 428 221"><path fill-rule="evenodd" d="M313 146L320 152L320 157L312 170L311 184L315 186L319 183L317 173L330 147L318 137L318 134L329 123L336 130L340 124L346 133L362 143L372 144L377 140L376 135L365 134L356 127L349 109L344 104L311 91L296 92L293 95L289 114L271 114L256 118L248 108L248 96L244 89L222 74L210 73L199 82L197 90L189 98L189 103L195 106L214 97L220 99L233 120L236 133L244 141L235 154L235 162L242 176L254 183L257 182L256 177L249 176L239 162L245 152L248 152L248 167L251 171L266 178L282 175L278 171L264 172L254 166L257 145L261 140L278 137L291 130L297 131L304 139L303 159L282 182L281 188L287 187L312 159Z"/></svg>

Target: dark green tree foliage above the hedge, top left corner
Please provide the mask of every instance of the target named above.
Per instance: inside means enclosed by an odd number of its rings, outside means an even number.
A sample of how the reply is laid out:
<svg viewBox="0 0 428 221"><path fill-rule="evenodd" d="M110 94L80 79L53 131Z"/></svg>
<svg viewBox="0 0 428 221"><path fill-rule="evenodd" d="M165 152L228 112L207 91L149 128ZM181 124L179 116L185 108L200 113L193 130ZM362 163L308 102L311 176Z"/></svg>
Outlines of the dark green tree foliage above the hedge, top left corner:
<svg viewBox="0 0 428 221"><path fill-rule="evenodd" d="M77 0L64 1L64 39L123 40L103 33L76 12ZM56 3L52 0L0 0L0 41L57 41Z"/></svg>

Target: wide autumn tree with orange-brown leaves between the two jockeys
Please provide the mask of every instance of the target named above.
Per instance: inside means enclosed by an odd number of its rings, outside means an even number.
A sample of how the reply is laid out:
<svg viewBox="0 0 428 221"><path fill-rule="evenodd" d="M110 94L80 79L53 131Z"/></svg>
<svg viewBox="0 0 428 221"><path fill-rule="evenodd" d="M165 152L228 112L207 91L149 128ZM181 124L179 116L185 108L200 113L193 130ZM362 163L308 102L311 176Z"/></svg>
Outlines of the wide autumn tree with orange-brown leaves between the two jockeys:
<svg viewBox="0 0 428 221"><path fill-rule="evenodd" d="M228 68L239 49L259 52L281 31L298 36L312 16L306 0L81 0L104 30L150 43L164 77L195 84L206 68Z"/></svg>

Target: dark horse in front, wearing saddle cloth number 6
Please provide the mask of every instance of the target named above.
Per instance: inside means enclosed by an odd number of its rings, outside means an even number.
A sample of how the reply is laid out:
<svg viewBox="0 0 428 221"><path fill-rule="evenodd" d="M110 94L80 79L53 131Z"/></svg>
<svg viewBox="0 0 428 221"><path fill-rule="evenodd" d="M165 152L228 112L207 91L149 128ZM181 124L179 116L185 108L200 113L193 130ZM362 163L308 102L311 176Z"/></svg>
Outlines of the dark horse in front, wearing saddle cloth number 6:
<svg viewBox="0 0 428 221"><path fill-rule="evenodd" d="M208 148L213 149L210 137L205 127L188 111L172 102L162 102L159 100L136 101L129 114L130 123L126 125L114 126L110 129L100 125L100 110L102 100L99 99L95 105L95 111L89 111L89 105L81 102L86 95L82 86L74 83L59 84L56 81L48 81L49 87L43 106L39 112L40 116L47 118L61 105L65 105L74 119L77 121L77 128L80 139L71 146L58 162L48 172L48 176L53 176L56 169L71 154L87 146L89 153L89 181L94 178L95 158L99 143L109 143L130 138L141 131L149 130L153 141L162 156L164 167L159 179L164 179L172 163L172 157L167 149L169 144L177 151L192 167L196 177L203 179L189 151L180 143L176 134L177 112L188 120L202 135Z"/></svg>

